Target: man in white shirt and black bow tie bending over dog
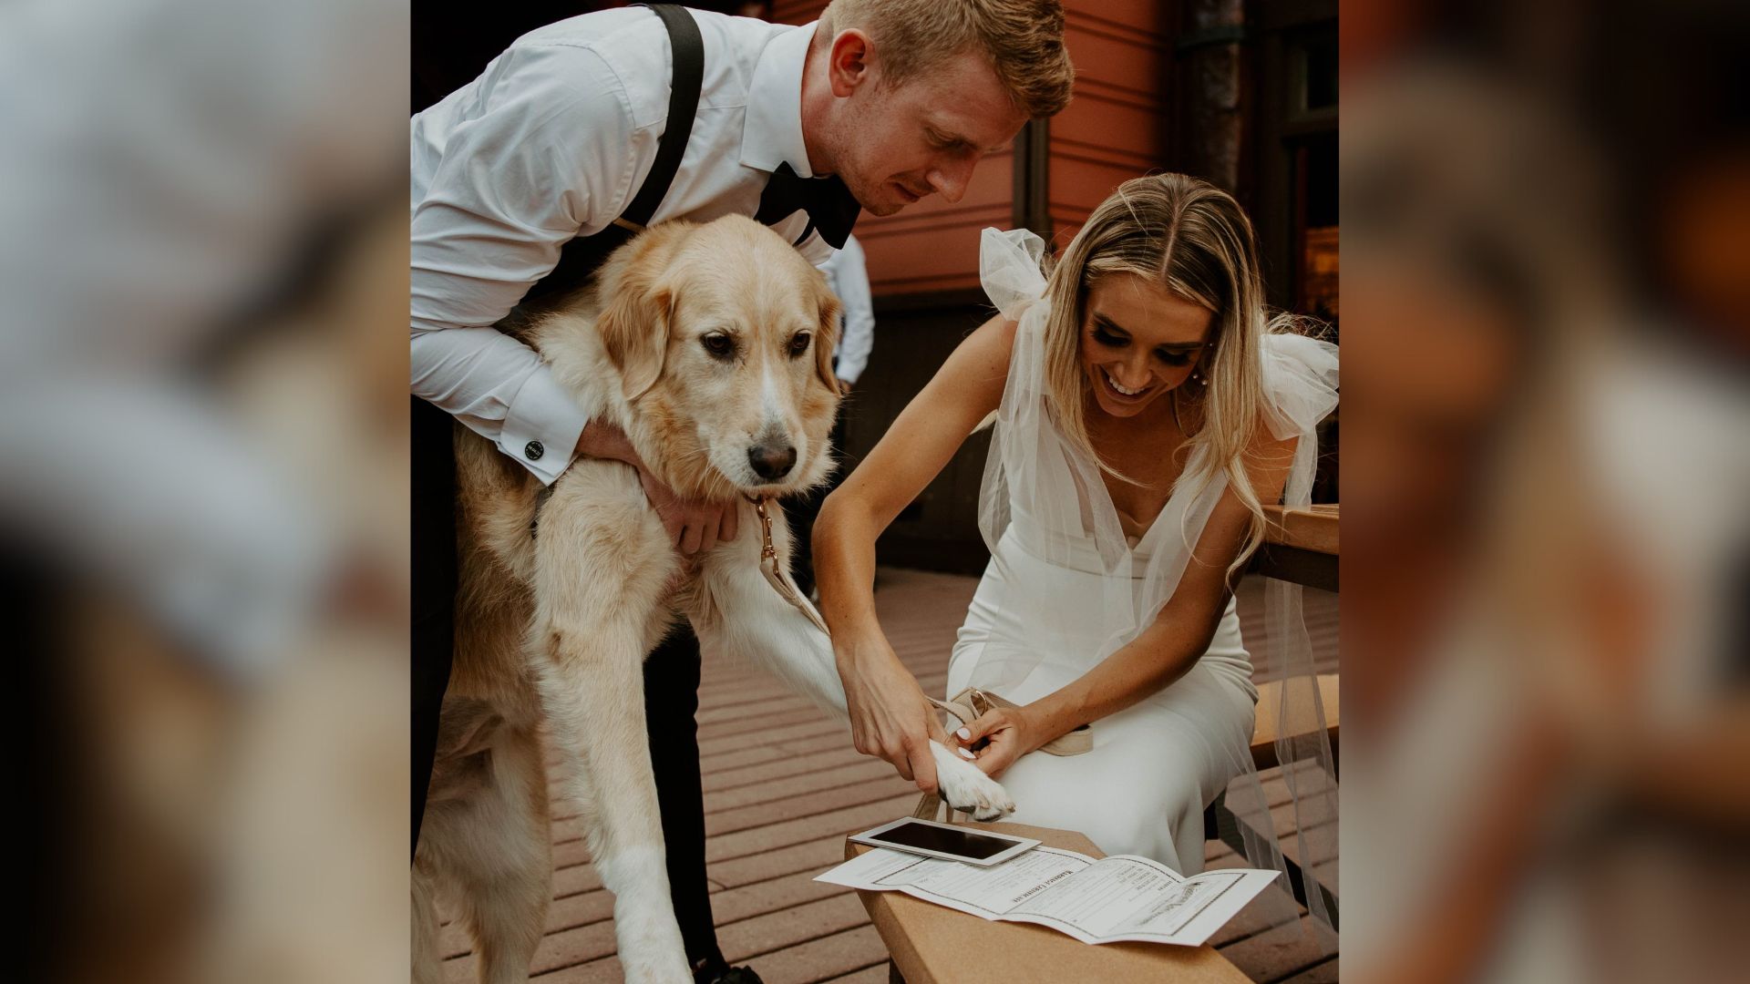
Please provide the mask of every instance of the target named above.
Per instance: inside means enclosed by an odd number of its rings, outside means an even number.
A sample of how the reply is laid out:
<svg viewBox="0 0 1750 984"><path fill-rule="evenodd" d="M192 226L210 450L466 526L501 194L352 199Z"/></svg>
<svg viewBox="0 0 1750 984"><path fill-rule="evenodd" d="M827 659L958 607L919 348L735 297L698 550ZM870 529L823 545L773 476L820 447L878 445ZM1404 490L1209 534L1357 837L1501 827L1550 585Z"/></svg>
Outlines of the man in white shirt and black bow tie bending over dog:
<svg viewBox="0 0 1750 984"><path fill-rule="evenodd" d="M802 28L600 11L523 35L413 117L415 849L453 644L452 418L542 483L576 455L632 464L686 553L737 532L733 504L679 499L494 326L586 284L637 226L754 215L819 264L859 208L959 201L984 154L1068 103L1062 23L1059 0L835 0ZM705 881L698 672L690 634L658 648L646 716L676 916L716 980L735 972Z"/></svg>

